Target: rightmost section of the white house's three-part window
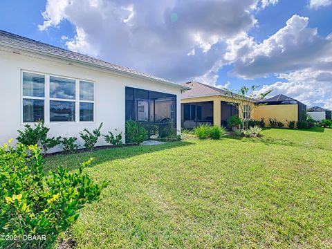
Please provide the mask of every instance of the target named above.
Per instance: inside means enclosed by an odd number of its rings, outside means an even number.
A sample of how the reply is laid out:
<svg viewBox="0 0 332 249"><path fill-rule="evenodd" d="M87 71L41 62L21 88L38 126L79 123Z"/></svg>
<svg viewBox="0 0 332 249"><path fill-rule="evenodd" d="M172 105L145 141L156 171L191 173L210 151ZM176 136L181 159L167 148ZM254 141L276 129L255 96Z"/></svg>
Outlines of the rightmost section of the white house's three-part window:
<svg viewBox="0 0 332 249"><path fill-rule="evenodd" d="M95 91L92 82L80 81L80 121L93 121Z"/></svg>

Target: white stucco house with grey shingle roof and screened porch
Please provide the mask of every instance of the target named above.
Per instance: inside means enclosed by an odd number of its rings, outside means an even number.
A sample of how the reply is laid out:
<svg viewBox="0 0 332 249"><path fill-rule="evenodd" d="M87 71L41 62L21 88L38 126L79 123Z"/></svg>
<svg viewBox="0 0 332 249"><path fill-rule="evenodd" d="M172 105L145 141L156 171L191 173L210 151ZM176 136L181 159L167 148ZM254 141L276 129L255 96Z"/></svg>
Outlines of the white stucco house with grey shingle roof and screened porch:
<svg viewBox="0 0 332 249"><path fill-rule="evenodd" d="M101 122L102 133L124 133L127 120L172 121L181 130L181 92L188 88L160 77L3 30L0 72L1 143L39 119L50 136L79 138Z"/></svg>

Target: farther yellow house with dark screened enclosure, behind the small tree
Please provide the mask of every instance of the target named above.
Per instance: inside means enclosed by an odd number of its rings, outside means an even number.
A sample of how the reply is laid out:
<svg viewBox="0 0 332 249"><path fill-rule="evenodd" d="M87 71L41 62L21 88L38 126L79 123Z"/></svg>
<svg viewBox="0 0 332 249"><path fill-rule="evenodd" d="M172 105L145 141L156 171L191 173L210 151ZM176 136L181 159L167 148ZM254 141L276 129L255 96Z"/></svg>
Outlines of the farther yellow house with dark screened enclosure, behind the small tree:
<svg viewBox="0 0 332 249"><path fill-rule="evenodd" d="M305 104L283 94L257 102L256 105L252 118L255 120L264 118L266 125L269 124L270 118L275 118L286 125L287 120L302 120L306 113Z"/></svg>

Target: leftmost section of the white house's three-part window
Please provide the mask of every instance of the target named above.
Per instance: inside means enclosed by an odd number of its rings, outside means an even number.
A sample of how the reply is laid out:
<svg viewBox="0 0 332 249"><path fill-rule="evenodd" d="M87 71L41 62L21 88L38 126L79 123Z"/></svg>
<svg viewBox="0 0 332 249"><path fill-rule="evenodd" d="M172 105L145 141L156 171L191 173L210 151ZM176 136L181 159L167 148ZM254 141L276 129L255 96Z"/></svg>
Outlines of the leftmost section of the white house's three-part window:
<svg viewBox="0 0 332 249"><path fill-rule="evenodd" d="M23 122L44 120L45 76L23 73Z"/></svg>

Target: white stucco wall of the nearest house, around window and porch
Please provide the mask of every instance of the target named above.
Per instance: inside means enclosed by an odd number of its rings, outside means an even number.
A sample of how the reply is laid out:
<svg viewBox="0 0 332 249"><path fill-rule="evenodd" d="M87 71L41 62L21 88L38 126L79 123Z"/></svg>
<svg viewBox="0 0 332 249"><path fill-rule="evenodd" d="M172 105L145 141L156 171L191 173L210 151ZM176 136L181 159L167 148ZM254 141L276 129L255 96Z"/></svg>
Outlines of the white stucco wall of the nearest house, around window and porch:
<svg viewBox="0 0 332 249"><path fill-rule="evenodd" d="M48 122L50 136L75 136L82 144L79 132L84 128L95 129L103 122L102 133L114 131L124 133L125 124L125 86L151 91L160 91L176 95L177 129L181 130L181 90L175 86L116 75L107 71L98 71L80 64L68 64L59 59L41 59L9 53L0 50L0 143L17 138L17 130L24 128L21 118L21 71L45 73L60 77L71 77L95 82L95 120L94 122ZM47 94L47 91L46 91ZM45 104L45 108L48 104ZM46 110L46 113L48 111ZM46 116L47 119L47 116ZM15 140L14 140L15 143ZM98 145L106 144L102 138ZM59 148L57 148L59 149ZM53 151L55 151L53 149Z"/></svg>

